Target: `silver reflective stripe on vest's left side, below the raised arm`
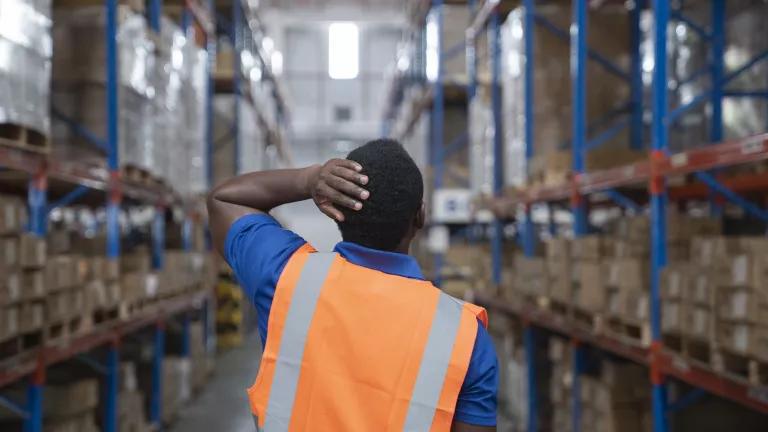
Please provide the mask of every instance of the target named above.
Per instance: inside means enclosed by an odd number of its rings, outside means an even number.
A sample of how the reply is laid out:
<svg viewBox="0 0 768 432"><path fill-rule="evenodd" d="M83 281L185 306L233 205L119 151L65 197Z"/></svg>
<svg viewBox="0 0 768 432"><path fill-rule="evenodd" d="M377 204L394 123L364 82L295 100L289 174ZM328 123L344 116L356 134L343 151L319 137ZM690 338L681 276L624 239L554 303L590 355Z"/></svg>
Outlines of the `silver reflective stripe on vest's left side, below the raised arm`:
<svg viewBox="0 0 768 432"><path fill-rule="evenodd" d="M323 288L328 271L336 254L309 254L299 281L293 291L288 315L285 318L280 352L275 364L275 375L267 402L264 431L282 432L288 430L296 399L296 387L301 373L304 345L315 314L317 299Z"/></svg>

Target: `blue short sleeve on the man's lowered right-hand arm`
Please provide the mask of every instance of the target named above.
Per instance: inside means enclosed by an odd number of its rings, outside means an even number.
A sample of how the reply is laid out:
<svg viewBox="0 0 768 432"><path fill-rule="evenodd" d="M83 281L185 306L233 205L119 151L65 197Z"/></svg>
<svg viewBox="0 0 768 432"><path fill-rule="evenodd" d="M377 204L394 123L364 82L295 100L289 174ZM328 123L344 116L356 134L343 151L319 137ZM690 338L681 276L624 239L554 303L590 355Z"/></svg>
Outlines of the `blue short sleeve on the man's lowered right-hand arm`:
<svg viewBox="0 0 768 432"><path fill-rule="evenodd" d="M454 420L474 426L496 426L498 388L499 362L493 340L478 322L475 347L456 402Z"/></svg>

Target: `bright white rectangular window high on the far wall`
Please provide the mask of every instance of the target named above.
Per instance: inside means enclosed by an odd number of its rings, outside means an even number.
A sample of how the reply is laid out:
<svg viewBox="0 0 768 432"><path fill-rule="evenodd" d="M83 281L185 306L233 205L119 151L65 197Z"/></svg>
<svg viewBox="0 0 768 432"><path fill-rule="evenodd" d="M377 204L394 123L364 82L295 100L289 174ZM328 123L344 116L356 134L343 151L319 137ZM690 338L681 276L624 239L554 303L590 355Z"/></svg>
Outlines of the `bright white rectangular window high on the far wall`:
<svg viewBox="0 0 768 432"><path fill-rule="evenodd" d="M356 24L338 22L328 27L328 75L355 79L360 72L359 30Z"/></svg>

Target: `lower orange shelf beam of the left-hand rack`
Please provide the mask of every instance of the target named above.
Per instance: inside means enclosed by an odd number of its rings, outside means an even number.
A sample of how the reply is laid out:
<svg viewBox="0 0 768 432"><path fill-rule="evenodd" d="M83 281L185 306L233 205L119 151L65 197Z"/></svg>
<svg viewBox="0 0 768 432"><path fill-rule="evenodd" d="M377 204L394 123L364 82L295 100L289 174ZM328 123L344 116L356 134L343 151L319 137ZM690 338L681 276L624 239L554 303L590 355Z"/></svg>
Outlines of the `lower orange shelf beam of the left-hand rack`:
<svg viewBox="0 0 768 432"><path fill-rule="evenodd" d="M32 352L22 353L21 358L12 357L4 360L0 362L0 388L21 380L41 366L47 367L90 351L100 345L119 341L124 335L153 323L161 322L179 312L200 308L210 295L209 291L199 291L161 300L154 305L147 306L146 310L139 312L127 321L109 323L103 327L97 326L90 333L70 339L64 346L46 345Z"/></svg>

